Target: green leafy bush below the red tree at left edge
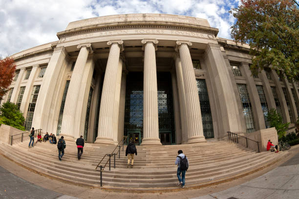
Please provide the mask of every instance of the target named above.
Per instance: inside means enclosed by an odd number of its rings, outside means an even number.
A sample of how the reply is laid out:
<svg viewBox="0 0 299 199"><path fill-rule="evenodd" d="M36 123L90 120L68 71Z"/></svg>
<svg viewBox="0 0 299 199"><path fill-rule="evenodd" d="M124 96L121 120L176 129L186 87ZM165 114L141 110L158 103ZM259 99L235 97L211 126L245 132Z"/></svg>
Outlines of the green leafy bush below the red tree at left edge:
<svg viewBox="0 0 299 199"><path fill-rule="evenodd" d="M0 107L0 124L6 124L22 131L25 130L23 123L25 119L18 109L17 105L11 102L5 102Z"/></svg>

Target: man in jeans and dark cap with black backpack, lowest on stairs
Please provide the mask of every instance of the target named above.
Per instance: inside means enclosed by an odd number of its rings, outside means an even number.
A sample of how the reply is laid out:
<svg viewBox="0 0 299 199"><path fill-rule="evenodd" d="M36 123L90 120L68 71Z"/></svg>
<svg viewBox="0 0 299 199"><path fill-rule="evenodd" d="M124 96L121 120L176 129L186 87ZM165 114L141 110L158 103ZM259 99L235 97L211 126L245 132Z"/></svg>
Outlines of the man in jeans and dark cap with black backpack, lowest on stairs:
<svg viewBox="0 0 299 199"><path fill-rule="evenodd" d="M181 188L185 187L185 174L189 167L189 160L185 154L183 154L182 150L178 150L178 156L175 159L175 165L177 165L177 178L179 180L178 185L181 186ZM182 174L182 178L181 178Z"/></svg>

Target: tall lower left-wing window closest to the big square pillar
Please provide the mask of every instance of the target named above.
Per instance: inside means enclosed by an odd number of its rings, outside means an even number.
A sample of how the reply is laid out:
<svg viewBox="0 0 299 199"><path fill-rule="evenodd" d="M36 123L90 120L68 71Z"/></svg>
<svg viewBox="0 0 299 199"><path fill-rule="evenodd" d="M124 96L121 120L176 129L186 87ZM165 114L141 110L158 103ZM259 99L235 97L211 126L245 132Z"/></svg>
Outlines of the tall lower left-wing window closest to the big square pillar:
<svg viewBox="0 0 299 199"><path fill-rule="evenodd" d="M32 88L30 100L28 103L27 116L26 116L26 120L25 120L25 129L27 131L29 131L32 126L32 119L33 119L33 115L34 115L36 101L39 96L40 88L41 88L41 85L35 85Z"/></svg>

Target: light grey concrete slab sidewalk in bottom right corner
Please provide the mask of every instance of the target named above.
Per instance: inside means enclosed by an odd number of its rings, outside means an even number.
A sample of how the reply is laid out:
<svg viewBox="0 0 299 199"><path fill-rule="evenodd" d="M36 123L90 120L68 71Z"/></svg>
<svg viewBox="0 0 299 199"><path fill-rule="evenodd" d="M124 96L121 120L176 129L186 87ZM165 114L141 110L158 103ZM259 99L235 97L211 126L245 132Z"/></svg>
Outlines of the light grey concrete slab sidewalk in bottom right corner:
<svg viewBox="0 0 299 199"><path fill-rule="evenodd" d="M298 199L299 154L276 169L246 183L193 199Z"/></svg>

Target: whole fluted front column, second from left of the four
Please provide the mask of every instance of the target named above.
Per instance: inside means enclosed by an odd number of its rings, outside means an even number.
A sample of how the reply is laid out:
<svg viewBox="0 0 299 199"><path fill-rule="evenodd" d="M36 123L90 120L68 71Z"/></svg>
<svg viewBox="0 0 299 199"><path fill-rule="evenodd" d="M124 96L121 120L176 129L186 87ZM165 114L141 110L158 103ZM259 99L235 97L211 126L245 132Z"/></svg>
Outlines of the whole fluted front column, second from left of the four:
<svg viewBox="0 0 299 199"><path fill-rule="evenodd" d="M116 80L119 66L120 51L123 50L122 40L107 42L111 45L104 77L101 108L99 116L98 137L94 143L114 144L113 119L116 95Z"/></svg>

